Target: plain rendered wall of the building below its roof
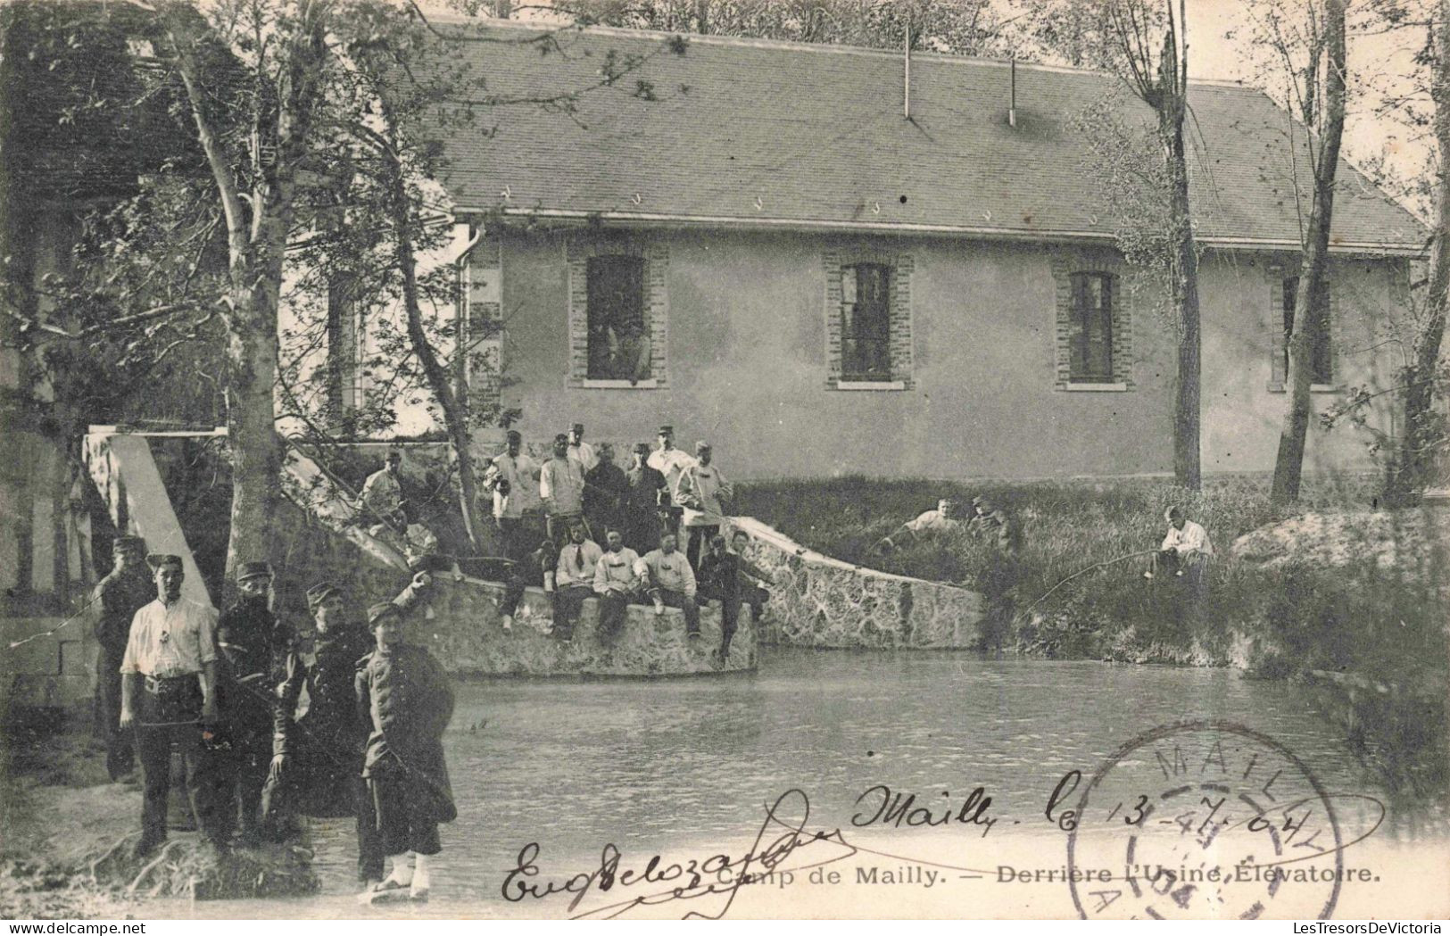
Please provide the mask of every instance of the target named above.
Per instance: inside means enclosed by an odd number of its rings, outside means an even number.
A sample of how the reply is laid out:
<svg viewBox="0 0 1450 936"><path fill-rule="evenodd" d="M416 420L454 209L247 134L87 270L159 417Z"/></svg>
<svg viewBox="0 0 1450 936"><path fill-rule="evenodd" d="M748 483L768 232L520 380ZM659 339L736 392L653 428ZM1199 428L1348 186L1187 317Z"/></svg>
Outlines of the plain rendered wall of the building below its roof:
<svg viewBox="0 0 1450 936"><path fill-rule="evenodd" d="M570 258L624 238L663 256L664 378L654 388L570 385ZM647 440L671 423L682 446L708 438L740 478L890 474L1048 477L1172 471L1173 349L1156 298L1121 290L1130 319L1127 390L1060 388L1058 303L1070 269L1118 268L1111 252L948 239L654 230L512 233L484 256L502 274L502 388L542 442L571 422L594 439ZM664 251L660 251L660 248ZM835 390L829 380L828 258L911 258L908 390ZM500 262L502 258L502 262ZM655 261L651 261L655 262ZM1204 464L1273 465L1283 394L1269 390L1269 255L1208 255L1204 306ZM579 268L577 262L574 265ZM1057 274L1054 277L1054 272ZM1391 309L1395 271L1338 264L1344 343L1367 348ZM577 272L573 274L577 278ZM1351 284L1341 283L1351 275ZM576 284L576 296L577 296ZM577 345L577 339L574 340ZM577 348L573 351L577 359ZM1346 354L1346 375L1385 358ZM1373 367L1370 367L1373 365ZM1115 375L1116 377L1116 375ZM1351 378L1353 383L1353 378ZM1333 394L1315 394L1322 406ZM1309 464L1364 467L1347 430L1311 438Z"/></svg>

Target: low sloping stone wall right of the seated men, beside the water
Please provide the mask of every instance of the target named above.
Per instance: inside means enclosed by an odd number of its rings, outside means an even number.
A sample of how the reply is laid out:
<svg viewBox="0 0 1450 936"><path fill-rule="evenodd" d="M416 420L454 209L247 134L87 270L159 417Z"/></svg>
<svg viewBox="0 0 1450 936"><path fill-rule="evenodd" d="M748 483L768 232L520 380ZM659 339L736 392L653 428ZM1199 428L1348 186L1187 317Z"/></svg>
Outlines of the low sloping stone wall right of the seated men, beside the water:
<svg viewBox="0 0 1450 936"><path fill-rule="evenodd" d="M947 649L977 640L985 603L974 591L850 565L751 517L729 525L750 535L747 558L773 581L763 643Z"/></svg>

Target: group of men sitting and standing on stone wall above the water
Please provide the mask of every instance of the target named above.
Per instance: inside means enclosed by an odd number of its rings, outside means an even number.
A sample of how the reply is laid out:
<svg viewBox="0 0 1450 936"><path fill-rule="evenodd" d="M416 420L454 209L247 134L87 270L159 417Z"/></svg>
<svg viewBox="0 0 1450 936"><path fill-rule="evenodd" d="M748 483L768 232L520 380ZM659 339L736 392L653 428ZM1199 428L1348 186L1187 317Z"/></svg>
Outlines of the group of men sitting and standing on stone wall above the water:
<svg viewBox="0 0 1450 936"><path fill-rule="evenodd" d="M402 510L400 456L370 475L362 506L374 529L397 540L409 561L436 548L426 527L407 523ZM729 655L742 604L758 619L766 575L742 558L748 536L737 532L726 549L721 525L734 494L708 442L695 455L674 446L674 429L660 426L657 443L634 446L628 468L615 464L610 443L584 440L583 423L552 440L542 464L523 451L523 436L509 430L506 448L484 471L480 497L489 498L509 564L499 607L510 630L526 585L542 585L554 601L551 633L573 639L583 600L600 598L600 633L612 638L631 601L684 611L690 638L699 636L699 601L721 603L721 646ZM682 543L683 540L683 543ZM682 551L683 545L683 551Z"/></svg>

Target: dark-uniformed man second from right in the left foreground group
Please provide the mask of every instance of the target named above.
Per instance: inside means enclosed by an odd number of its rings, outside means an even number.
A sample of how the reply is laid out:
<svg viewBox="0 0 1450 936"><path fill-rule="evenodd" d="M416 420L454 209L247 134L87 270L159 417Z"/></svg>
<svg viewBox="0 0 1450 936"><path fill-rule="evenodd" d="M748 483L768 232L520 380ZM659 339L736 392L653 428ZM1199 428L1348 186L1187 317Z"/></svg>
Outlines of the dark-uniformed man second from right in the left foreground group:
<svg viewBox="0 0 1450 936"><path fill-rule="evenodd" d="M416 574L396 601L412 606L426 580L426 572ZM373 794L362 780L370 723L358 711L354 681L362 658L376 645L367 626L348 616L342 593L331 582L307 590L307 607L316 624L316 643L310 659L300 648L289 653L287 675L277 687L281 704L262 813L274 822L293 811L355 816L358 881L371 887L383 879L383 848ZM306 710L299 713L303 693Z"/></svg>

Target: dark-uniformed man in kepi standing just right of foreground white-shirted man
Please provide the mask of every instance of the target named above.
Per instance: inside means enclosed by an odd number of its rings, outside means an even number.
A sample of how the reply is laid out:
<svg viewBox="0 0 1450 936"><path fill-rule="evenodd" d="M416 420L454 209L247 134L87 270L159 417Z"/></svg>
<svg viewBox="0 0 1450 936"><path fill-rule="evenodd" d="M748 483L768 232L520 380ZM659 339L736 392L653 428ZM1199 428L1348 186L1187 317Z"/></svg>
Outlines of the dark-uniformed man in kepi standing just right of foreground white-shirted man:
<svg viewBox="0 0 1450 936"><path fill-rule="evenodd" d="M222 711L231 727L236 829L245 843L261 839L262 785L273 758L276 687L286 678L297 635L271 611L273 569L265 562L236 567L236 604L216 624L222 656Z"/></svg>

